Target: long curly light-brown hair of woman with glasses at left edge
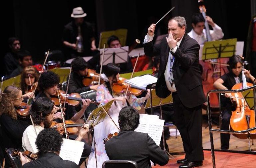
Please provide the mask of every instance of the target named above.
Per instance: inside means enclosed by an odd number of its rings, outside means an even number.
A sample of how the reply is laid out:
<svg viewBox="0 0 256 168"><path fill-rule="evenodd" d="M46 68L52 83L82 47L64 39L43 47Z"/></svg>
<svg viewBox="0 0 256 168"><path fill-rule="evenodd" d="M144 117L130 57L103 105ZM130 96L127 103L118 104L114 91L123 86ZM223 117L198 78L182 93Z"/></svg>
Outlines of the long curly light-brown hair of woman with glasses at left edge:
<svg viewBox="0 0 256 168"><path fill-rule="evenodd" d="M5 113L11 116L12 119L17 119L17 112L12 101L16 100L20 90L20 88L10 85L3 92L0 92L0 116Z"/></svg>

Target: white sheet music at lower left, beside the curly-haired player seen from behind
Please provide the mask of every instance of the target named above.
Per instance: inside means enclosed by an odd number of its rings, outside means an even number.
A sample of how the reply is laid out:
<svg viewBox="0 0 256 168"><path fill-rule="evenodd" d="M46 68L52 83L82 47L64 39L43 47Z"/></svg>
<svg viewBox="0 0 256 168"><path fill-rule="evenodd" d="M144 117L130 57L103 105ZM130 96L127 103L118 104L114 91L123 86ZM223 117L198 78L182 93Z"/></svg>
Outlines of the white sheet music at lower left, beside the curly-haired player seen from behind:
<svg viewBox="0 0 256 168"><path fill-rule="evenodd" d="M84 142L63 139L60 157L63 160L73 161L78 165L83 152L83 146Z"/></svg>

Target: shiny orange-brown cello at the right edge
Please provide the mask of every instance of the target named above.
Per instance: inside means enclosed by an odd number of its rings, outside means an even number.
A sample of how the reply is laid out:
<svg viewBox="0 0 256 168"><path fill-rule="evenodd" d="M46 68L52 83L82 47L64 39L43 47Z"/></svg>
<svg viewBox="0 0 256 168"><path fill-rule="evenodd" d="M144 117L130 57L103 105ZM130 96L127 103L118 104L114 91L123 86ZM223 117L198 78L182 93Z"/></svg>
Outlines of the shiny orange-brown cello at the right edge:
<svg viewBox="0 0 256 168"><path fill-rule="evenodd" d="M242 71L243 82L235 84L233 89L242 89L253 84L246 82L245 74ZM251 110L245 101L241 92L231 93L232 104L235 105L235 110L232 111L230 118L230 130L243 131L255 127L255 113ZM239 139L256 139L256 130L246 134L233 134Z"/></svg>

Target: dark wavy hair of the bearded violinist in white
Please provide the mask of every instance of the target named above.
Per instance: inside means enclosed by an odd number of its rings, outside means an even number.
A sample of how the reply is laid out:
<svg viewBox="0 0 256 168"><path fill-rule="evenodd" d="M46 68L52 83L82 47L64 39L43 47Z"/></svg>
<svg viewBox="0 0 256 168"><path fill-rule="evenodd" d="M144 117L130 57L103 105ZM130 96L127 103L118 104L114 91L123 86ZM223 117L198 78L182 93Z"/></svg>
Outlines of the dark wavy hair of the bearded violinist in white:
<svg viewBox="0 0 256 168"><path fill-rule="evenodd" d="M39 97L33 102L29 110L35 124L39 125L46 120L46 117L51 114L54 102L48 97Z"/></svg>

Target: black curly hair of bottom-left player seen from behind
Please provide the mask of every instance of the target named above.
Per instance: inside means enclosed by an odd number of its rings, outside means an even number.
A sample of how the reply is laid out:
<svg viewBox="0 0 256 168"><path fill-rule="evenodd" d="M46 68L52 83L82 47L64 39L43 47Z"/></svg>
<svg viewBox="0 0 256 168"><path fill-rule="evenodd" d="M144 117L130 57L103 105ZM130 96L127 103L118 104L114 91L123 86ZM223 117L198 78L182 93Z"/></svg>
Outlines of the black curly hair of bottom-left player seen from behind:
<svg viewBox="0 0 256 168"><path fill-rule="evenodd" d="M48 152L61 151L63 139L60 133L54 128L46 128L42 130L36 140L36 145L38 149L38 154L44 154Z"/></svg>

